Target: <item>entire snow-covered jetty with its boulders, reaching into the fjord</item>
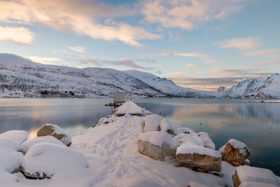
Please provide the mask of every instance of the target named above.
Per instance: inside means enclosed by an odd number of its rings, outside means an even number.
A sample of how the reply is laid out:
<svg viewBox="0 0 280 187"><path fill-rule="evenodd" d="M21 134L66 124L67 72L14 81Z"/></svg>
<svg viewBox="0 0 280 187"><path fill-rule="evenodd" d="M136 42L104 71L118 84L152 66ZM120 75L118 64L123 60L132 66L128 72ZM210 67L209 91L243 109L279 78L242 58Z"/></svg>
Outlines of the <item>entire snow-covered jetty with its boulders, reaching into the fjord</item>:
<svg viewBox="0 0 280 187"><path fill-rule="evenodd" d="M217 151L206 132L134 102L71 136L56 125L41 129L34 139L25 131L0 134L0 186L280 185L270 170L243 165L246 144L230 139Z"/></svg>

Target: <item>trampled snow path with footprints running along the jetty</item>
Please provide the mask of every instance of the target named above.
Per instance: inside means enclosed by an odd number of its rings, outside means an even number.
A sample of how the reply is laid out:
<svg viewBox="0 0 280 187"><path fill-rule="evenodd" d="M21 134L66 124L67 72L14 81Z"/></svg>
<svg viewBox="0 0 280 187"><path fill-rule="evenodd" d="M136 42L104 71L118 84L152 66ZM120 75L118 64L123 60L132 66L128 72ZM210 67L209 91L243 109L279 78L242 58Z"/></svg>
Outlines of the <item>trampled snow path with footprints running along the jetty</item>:
<svg viewBox="0 0 280 187"><path fill-rule="evenodd" d="M186 186L190 181L225 186L218 176L174 167L171 161L160 162L141 155L137 151L137 139L143 117L117 119L113 123L73 134L71 147L87 158L94 172L93 186L129 186L135 181L149 180L161 186Z"/></svg>

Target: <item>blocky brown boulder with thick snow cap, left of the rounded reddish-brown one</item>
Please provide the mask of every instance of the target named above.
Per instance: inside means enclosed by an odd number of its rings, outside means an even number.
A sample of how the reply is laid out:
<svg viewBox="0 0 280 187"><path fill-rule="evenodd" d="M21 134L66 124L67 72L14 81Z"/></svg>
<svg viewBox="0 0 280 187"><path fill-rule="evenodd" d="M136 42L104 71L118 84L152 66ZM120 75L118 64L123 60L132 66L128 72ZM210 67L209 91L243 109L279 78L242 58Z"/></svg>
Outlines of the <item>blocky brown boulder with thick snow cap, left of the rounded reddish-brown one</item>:
<svg viewBox="0 0 280 187"><path fill-rule="evenodd" d="M221 172L222 169L219 151L193 144L181 144L176 150L176 160L181 166L197 172Z"/></svg>

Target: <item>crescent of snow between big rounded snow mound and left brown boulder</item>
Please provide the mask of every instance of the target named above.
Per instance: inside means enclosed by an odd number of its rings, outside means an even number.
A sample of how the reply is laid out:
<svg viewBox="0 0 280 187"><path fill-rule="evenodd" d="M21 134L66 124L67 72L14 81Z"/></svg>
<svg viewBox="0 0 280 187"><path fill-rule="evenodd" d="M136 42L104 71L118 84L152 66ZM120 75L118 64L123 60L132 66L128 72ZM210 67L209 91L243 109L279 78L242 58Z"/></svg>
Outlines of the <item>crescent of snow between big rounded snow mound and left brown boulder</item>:
<svg viewBox="0 0 280 187"><path fill-rule="evenodd" d="M24 149L25 152L31 147L34 146L35 144L41 143L41 142L48 142L52 144L58 144L64 146L62 141L59 141L55 137L52 136L44 136L44 137L35 137L33 139L28 139L27 141L23 142L22 148Z"/></svg>

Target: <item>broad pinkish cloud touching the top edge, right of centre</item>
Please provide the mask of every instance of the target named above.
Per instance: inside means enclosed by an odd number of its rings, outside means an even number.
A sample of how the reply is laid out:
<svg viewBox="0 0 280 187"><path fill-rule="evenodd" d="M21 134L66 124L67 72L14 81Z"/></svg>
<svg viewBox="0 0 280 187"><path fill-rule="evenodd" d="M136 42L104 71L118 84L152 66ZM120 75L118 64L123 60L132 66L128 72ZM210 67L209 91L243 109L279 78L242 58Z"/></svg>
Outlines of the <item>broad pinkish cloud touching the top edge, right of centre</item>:
<svg viewBox="0 0 280 187"><path fill-rule="evenodd" d="M203 22L222 20L239 11L242 1L236 0L146 0L141 4L144 21L162 27L192 30Z"/></svg>

